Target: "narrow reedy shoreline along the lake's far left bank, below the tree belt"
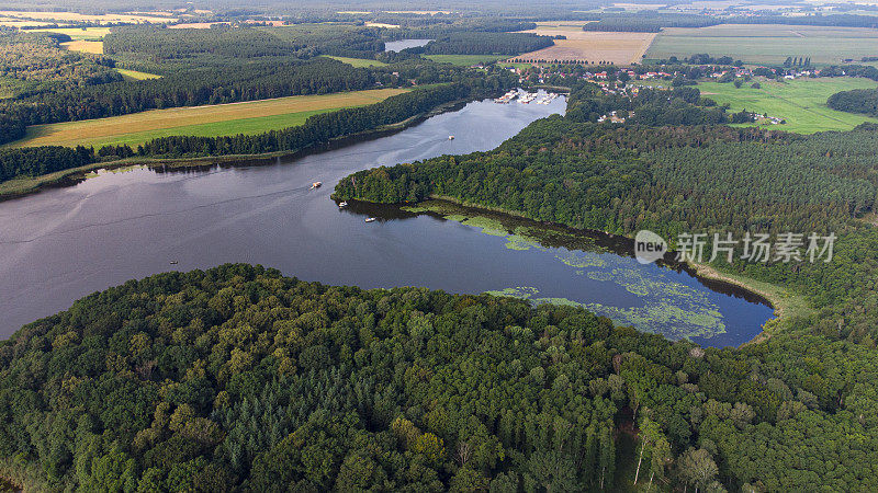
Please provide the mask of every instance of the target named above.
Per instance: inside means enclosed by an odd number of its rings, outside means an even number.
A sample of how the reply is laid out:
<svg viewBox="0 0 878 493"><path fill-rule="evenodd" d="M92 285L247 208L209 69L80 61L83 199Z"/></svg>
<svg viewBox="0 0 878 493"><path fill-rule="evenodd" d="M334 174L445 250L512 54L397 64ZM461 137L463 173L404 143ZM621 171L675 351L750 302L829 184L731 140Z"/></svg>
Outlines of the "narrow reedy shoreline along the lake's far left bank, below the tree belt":
<svg viewBox="0 0 878 493"><path fill-rule="evenodd" d="M86 164L79 168L70 168L68 170L56 171L48 174L38 176L15 177L0 183L0 202L11 200L15 198L25 197L35 193L40 193L45 188L64 187L76 185L83 180L86 175L93 171L106 170L112 171L119 168L142 165L157 172L175 171L175 170L198 170L210 169L213 167L252 167L252 165L267 165L279 163L282 159L296 159L304 156L319 153L327 150L342 148L352 144L376 139L389 135L396 134L415 126L427 118L432 116L453 111L458 106L463 106L472 101L480 101L482 98L476 99L462 99L442 103L430 111L421 114L410 116L402 122L390 125L382 125L370 130L350 134L341 137L333 138L326 142L304 147L302 149L294 149L289 151L266 152L258 154L227 154L227 156L202 156L192 158L125 158L113 161L95 162Z"/></svg>

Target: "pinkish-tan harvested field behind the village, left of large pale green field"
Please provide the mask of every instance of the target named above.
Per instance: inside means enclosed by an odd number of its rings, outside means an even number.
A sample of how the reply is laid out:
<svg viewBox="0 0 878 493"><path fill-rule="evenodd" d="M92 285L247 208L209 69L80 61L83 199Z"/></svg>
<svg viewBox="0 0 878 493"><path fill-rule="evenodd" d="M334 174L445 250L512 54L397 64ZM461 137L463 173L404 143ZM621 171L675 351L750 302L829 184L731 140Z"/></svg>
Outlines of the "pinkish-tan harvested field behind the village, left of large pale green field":
<svg viewBox="0 0 878 493"><path fill-rule="evenodd" d="M554 46L515 57L526 60L609 61L616 65L629 65L640 61L655 38L655 33L585 32L541 27L525 32L567 37L555 39Z"/></svg>

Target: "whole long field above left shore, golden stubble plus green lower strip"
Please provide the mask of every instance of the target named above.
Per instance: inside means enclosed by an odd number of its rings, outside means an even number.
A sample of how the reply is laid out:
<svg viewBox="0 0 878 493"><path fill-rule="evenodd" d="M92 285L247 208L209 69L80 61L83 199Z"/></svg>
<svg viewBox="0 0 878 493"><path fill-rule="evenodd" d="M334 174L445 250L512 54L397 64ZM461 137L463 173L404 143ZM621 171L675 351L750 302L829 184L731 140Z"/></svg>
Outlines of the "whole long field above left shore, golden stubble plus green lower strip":
<svg viewBox="0 0 878 493"><path fill-rule="evenodd" d="M210 106L154 110L110 118L34 125L13 147L137 146L157 137L258 134L301 125L308 116L376 103L404 89L303 95Z"/></svg>

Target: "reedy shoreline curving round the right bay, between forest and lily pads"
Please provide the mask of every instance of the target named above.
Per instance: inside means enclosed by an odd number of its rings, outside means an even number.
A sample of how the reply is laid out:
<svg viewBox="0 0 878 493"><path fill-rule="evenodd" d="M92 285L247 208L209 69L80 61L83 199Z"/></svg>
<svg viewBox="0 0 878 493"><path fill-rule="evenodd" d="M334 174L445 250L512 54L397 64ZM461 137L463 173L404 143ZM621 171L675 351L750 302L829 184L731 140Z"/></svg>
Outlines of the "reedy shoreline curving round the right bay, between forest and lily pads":
<svg viewBox="0 0 878 493"><path fill-rule="evenodd" d="M469 207L476 210L484 210L487 213L505 214L510 217L528 219L542 225L555 226L555 227L560 226L575 231L599 233L599 234L605 234L608 238L623 238L633 241L632 238L626 236L614 234L600 230L573 228L567 225L559 222L541 221L532 219L519 211L506 210L500 207L483 206L480 204L461 200L451 196L431 194L429 195L428 199L447 202L458 206ZM699 264L694 262L667 262L667 261L662 262L662 264L671 268L685 270L693 277L697 278L699 282L702 283L707 282L711 284L718 284L727 288L736 288L746 291L754 298L765 302L774 310L774 318L767 320L762 325L762 331L758 334L756 334L752 340L741 344L738 347L767 341L768 339L772 337L772 335L774 335L775 332L781 329L781 325L784 325L790 318L796 317L797 314L807 314L813 310L812 308L810 308L810 306L808 306L808 300L802 295L791 293L789 289L783 286L762 282L743 275L721 272L718 271L716 267L707 264ZM710 288L710 286L708 287Z"/></svg>

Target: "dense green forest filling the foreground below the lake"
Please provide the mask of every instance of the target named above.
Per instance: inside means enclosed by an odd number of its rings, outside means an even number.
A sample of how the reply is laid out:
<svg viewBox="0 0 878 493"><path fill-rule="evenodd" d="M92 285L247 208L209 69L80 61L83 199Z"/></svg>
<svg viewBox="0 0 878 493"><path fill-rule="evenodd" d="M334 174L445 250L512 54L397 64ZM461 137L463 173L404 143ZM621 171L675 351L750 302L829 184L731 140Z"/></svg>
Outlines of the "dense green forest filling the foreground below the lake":
<svg viewBox="0 0 878 493"><path fill-rule="evenodd" d="M0 456L86 491L612 490L619 461L644 486L862 491L876 364L818 335L702 349L578 308L224 265L0 343Z"/></svg>

